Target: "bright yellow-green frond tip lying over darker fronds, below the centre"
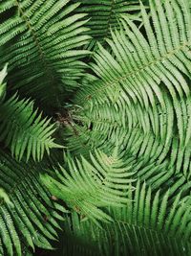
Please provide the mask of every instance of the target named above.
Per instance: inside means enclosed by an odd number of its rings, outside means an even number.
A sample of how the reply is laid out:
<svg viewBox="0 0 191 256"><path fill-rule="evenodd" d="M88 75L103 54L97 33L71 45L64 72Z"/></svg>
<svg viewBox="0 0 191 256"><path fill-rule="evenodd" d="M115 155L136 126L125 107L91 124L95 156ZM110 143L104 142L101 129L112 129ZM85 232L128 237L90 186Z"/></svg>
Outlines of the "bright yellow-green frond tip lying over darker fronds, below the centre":
<svg viewBox="0 0 191 256"><path fill-rule="evenodd" d="M112 221L100 207L121 207L127 203L127 190L134 180L133 173L123 166L117 156L108 157L101 151L91 155L91 162L67 157L68 171L60 167L55 177L42 175L43 183L56 198L92 221Z"/></svg>

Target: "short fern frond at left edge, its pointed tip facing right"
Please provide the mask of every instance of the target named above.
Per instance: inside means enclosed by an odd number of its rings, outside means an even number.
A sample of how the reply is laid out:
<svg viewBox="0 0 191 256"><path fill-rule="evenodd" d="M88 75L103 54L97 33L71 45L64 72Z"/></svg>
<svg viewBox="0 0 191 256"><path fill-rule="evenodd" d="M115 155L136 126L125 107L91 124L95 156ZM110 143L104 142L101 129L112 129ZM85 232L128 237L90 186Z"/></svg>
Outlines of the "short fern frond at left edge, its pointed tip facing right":
<svg viewBox="0 0 191 256"><path fill-rule="evenodd" d="M21 160L27 153L34 161L40 161L44 152L53 148L63 148L53 142L54 124L51 119L42 118L33 110L30 100L18 100L17 95L0 105L0 141L11 148L12 155Z"/></svg>

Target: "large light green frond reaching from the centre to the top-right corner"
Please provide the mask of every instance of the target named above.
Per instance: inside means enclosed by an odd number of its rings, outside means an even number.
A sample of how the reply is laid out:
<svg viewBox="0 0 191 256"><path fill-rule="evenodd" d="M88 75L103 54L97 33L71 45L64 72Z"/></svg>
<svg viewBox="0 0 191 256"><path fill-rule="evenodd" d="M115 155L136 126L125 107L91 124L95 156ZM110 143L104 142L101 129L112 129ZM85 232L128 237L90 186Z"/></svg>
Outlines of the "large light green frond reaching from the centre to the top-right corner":
<svg viewBox="0 0 191 256"><path fill-rule="evenodd" d="M141 5L147 36L123 16L120 31L113 32L112 40L107 40L112 54L99 45L95 54L96 64L93 63L92 67L101 81L94 82L92 88L83 88L77 102L113 103L117 92L117 101L121 101L121 105L130 101L148 108L159 102L163 107L163 86L175 105L179 97L189 95L186 77L190 78L191 71L191 14L187 11L188 2L165 1L162 5L160 1L151 0L150 8L152 23ZM90 96L91 100L87 101Z"/></svg>

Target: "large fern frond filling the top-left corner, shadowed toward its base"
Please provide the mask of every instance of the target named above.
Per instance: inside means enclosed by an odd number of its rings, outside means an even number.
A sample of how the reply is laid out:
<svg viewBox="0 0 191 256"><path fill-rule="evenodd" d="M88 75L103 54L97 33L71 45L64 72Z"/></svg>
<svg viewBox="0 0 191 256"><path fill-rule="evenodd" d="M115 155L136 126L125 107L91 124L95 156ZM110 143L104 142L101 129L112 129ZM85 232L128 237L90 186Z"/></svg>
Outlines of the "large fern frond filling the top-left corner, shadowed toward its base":
<svg viewBox="0 0 191 256"><path fill-rule="evenodd" d="M87 31L86 14L73 14L78 6L70 0L0 3L0 58L9 62L9 84L46 107L60 106L83 75L80 58L89 52L79 47L90 36L81 35Z"/></svg>

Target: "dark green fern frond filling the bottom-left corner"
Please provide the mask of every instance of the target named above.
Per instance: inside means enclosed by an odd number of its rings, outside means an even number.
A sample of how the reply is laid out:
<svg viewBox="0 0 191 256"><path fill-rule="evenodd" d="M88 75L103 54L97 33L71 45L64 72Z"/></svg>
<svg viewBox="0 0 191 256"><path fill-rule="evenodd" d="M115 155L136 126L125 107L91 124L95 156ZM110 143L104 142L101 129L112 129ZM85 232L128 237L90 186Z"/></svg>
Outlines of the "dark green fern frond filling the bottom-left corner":
<svg viewBox="0 0 191 256"><path fill-rule="evenodd" d="M39 166L18 163L0 150L0 255L24 255L34 246L52 248L57 221L55 202L38 177ZM2 191L4 194L2 194ZM3 197L2 197L3 195ZM7 198L6 198L6 197ZM54 208L54 209L53 209ZM63 207L59 207L63 210Z"/></svg>

